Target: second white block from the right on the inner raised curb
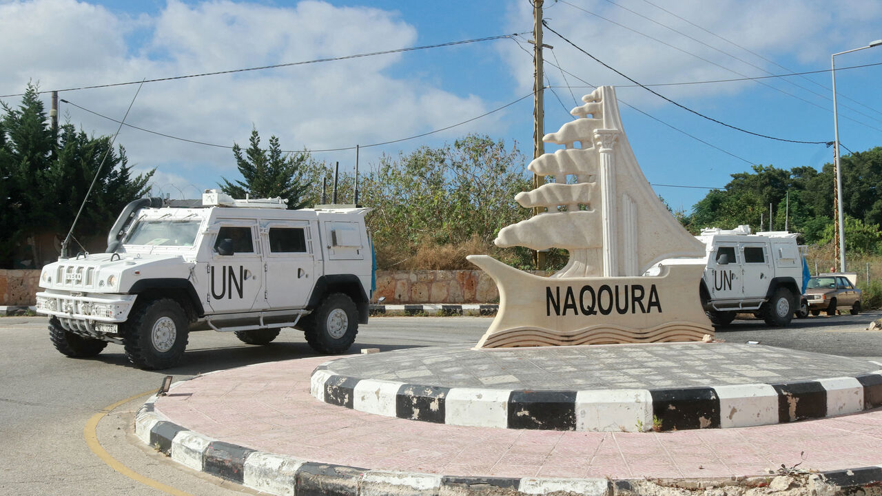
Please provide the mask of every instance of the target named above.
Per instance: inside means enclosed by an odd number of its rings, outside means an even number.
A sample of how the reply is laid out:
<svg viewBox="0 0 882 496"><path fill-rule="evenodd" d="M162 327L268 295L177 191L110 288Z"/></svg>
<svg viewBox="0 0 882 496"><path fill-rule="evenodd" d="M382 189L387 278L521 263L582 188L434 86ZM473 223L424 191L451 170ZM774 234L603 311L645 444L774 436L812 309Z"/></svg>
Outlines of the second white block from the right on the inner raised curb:
<svg viewBox="0 0 882 496"><path fill-rule="evenodd" d="M778 392L768 384L714 386L720 397L720 427L778 423Z"/></svg>

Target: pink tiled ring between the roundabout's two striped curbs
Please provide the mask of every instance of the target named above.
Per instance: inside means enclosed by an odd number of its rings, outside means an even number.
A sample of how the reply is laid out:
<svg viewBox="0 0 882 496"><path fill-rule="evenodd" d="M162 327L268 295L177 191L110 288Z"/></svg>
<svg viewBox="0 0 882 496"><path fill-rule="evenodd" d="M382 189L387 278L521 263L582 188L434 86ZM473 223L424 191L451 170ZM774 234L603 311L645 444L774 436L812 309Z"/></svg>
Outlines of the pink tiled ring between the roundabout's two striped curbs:
<svg viewBox="0 0 882 496"><path fill-rule="evenodd" d="M517 353L506 353L500 362L517 362L511 359ZM656 348L649 354L659 353ZM576 355L568 350L560 356ZM785 425L662 433L436 425L319 402L310 396L308 378L325 362L326 357L306 358L213 373L177 385L156 402L156 410L185 428L261 451L463 477L730 477L758 475L781 463L840 470L882 462L882 410ZM706 380L706 374L690 373ZM463 375L481 377L474 371Z"/></svg>

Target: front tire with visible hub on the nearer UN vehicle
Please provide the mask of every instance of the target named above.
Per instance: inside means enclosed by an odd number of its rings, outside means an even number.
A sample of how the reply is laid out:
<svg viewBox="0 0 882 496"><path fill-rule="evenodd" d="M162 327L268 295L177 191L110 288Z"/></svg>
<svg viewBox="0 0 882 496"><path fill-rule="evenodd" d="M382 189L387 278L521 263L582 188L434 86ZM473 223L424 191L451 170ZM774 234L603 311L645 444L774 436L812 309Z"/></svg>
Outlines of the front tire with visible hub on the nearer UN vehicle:
<svg viewBox="0 0 882 496"><path fill-rule="evenodd" d="M125 323L125 356L144 370L175 366L187 348L187 314L175 300L149 301Z"/></svg>

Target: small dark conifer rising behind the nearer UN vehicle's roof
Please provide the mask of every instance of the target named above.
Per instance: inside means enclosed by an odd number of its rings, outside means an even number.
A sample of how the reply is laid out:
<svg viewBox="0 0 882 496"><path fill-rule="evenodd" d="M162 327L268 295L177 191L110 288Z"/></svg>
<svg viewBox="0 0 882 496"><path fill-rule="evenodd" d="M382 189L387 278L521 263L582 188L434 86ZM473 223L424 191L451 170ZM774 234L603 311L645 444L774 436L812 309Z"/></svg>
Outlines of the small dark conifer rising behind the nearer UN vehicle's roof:
<svg viewBox="0 0 882 496"><path fill-rule="evenodd" d="M230 182L223 179L221 191L236 199L248 194L252 198L281 197L288 200L288 208L306 206L305 194L308 184L304 183L304 169L310 162L307 152L283 154L279 139L270 137L270 147L260 147L258 130L251 130L250 146L243 154L242 147L233 144L235 165L242 174L242 181Z"/></svg>

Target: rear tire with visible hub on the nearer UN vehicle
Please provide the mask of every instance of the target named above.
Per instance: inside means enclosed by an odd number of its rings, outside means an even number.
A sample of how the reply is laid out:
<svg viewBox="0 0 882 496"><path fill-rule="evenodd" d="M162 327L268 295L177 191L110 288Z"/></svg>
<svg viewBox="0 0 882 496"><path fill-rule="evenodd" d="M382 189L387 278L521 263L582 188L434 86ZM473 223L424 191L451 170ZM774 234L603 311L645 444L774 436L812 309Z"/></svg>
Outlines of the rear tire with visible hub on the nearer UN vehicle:
<svg viewBox="0 0 882 496"><path fill-rule="evenodd" d="M355 342L358 334L358 312L352 298L334 293L310 313L304 327L310 348L329 355L340 354Z"/></svg>

